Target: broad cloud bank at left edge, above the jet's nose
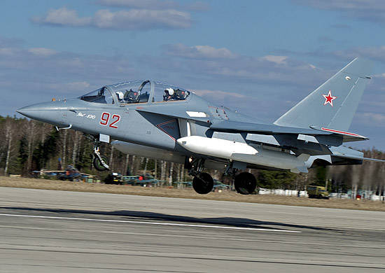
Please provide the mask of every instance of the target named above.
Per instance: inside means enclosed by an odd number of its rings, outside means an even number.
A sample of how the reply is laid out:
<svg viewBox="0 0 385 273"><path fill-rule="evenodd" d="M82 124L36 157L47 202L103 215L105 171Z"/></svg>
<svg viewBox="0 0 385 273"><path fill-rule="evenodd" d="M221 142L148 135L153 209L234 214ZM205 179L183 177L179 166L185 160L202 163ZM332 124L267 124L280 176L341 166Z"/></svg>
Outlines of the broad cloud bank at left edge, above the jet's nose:
<svg viewBox="0 0 385 273"><path fill-rule="evenodd" d="M0 82L10 86L6 94L25 95L25 104L36 102L32 94L39 97L53 91L76 97L98 85L127 76L136 78L132 60L121 55L79 55L50 48L15 46L0 47L0 56Z"/></svg>

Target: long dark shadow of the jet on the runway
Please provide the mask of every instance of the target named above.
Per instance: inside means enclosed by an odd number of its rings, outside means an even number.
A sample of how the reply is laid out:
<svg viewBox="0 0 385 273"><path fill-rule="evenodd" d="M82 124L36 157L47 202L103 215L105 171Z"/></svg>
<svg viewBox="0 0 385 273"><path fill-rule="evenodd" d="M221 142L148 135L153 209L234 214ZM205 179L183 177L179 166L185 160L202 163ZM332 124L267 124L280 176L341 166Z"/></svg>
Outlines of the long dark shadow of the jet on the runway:
<svg viewBox="0 0 385 273"><path fill-rule="evenodd" d="M265 229L284 229L284 228L296 228L305 230L330 230L339 231L329 228L318 228L309 225L295 225L288 223L270 222L270 221L258 221L248 218L236 218L236 217L218 217L218 218L196 218L190 216L171 215L171 214L159 214L149 211L90 211L83 209L38 209L28 207L0 207L3 210L15 210L15 211L36 211L36 212L50 212L55 214L89 214L89 215L104 215L104 216L124 216L127 218L135 218L144 221L169 221L179 223L197 223L197 224L210 224L210 225L229 225L239 228L265 228ZM266 225L269 225L267 227Z"/></svg>

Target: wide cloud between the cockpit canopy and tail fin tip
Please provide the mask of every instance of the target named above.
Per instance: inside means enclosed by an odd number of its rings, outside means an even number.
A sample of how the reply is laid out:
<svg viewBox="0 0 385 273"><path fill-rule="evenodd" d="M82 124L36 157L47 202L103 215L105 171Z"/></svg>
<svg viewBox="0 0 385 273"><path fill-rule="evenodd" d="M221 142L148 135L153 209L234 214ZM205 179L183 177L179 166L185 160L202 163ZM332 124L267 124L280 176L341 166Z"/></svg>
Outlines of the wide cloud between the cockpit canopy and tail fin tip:
<svg viewBox="0 0 385 273"><path fill-rule="evenodd" d="M304 84L314 80L313 74L309 72L316 69L311 64L287 56L251 57L210 45L188 46L178 43L164 45L162 49L165 55L172 57L167 59L167 69L170 71L184 71L202 77L215 76L221 80L299 85L298 78Z"/></svg>

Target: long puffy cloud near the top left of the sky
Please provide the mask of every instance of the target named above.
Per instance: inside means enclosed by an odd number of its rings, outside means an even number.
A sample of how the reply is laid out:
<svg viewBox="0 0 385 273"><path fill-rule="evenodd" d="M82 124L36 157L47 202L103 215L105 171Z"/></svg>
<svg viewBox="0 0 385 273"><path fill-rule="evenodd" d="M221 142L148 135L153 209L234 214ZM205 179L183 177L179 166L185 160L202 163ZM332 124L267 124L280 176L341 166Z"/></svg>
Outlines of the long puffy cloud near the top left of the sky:
<svg viewBox="0 0 385 273"><path fill-rule="evenodd" d="M31 18L39 25L60 27L96 27L99 29L186 29L191 26L190 14L174 10L97 10L92 17L80 18L76 10L59 8L48 10L43 17Z"/></svg>

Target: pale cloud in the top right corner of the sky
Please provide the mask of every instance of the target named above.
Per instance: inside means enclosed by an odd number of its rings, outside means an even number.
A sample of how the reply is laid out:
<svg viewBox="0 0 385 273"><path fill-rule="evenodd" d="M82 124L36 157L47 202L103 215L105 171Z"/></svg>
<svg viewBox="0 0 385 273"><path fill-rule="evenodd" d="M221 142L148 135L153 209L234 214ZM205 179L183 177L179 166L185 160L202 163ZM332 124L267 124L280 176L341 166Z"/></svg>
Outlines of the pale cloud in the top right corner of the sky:
<svg viewBox="0 0 385 273"><path fill-rule="evenodd" d="M343 15L370 22L385 22L385 1L383 0L292 0L302 6L320 10L339 11Z"/></svg>

